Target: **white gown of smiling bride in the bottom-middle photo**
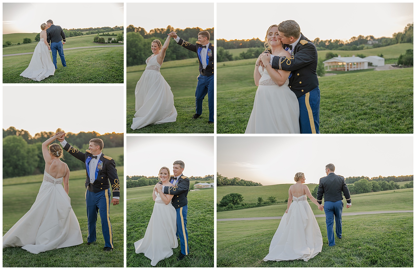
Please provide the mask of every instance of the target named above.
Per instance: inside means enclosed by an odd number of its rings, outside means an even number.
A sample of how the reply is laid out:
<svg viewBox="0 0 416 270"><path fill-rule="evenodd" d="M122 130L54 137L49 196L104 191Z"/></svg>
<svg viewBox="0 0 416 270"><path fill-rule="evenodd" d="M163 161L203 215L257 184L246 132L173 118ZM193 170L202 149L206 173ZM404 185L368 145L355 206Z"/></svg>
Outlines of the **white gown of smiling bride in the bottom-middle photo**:
<svg viewBox="0 0 416 270"><path fill-rule="evenodd" d="M156 191L155 191L156 192ZM160 260L173 255L172 248L178 247L176 237L176 210L171 203L165 204L156 192L153 213L144 238L134 243L136 253L144 253L155 266Z"/></svg>

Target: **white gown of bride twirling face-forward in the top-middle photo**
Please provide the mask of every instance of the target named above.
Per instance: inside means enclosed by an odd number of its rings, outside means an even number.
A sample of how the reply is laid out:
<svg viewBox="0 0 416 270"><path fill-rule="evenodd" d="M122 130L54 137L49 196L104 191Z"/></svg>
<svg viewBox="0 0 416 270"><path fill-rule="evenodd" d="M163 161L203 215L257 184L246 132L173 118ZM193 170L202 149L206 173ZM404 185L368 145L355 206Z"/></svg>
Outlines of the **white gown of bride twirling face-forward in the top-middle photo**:
<svg viewBox="0 0 416 270"><path fill-rule="evenodd" d="M146 70L136 84L136 113L131 125L133 130L150 124L175 122L178 116L173 105L171 86L160 73L156 57L146 60Z"/></svg>

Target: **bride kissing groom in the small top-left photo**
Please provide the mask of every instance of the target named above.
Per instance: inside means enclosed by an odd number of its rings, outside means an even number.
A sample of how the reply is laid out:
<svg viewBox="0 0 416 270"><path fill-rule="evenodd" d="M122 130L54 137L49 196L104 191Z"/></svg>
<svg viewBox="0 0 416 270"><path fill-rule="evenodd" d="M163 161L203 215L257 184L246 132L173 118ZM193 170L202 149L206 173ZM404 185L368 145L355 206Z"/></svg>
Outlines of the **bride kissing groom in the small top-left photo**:
<svg viewBox="0 0 416 270"><path fill-rule="evenodd" d="M25 71L20 74L25 78L32 79L34 81L42 81L43 79L54 75L55 73L55 66L52 63L51 56L49 51L51 47L47 43L46 37L46 29L48 29L48 25L46 23L42 23L40 25L40 41L36 45L35 52L33 52L32 60L30 60L30 64L25 69Z"/></svg>

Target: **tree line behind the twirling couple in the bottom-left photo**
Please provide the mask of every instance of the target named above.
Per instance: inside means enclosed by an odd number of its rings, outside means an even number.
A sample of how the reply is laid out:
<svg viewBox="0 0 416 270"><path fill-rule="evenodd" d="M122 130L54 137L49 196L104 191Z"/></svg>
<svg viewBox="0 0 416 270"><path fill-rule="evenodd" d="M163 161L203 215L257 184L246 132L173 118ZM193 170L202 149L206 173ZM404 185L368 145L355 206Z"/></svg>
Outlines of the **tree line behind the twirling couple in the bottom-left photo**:
<svg viewBox="0 0 416 270"><path fill-rule="evenodd" d="M61 131L58 129L57 131ZM41 132L31 136L26 130L16 130L10 127L3 129L3 177L17 177L33 174L41 174L45 169L45 160L42 155L42 142L52 137L56 132ZM75 148L85 151L88 149L89 140L99 137L104 142L104 147L123 147L123 133L67 133L65 140ZM56 140L54 143L59 142ZM119 157L123 159L123 157ZM64 151L64 162L70 170L84 169L85 165Z"/></svg>

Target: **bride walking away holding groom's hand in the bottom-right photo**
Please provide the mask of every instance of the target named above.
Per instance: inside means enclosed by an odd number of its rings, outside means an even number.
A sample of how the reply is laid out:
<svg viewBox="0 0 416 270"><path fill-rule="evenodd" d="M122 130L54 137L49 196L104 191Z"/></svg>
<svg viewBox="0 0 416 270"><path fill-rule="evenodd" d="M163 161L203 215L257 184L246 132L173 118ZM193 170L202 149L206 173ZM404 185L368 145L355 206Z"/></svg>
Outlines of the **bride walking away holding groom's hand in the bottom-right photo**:
<svg viewBox="0 0 416 270"><path fill-rule="evenodd" d="M287 209L270 243L268 260L304 260L307 262L322 251L322 234L306 197L322 211L323 206L304 185L305 174L295 175L296 184L289 188Z"/></svg>

